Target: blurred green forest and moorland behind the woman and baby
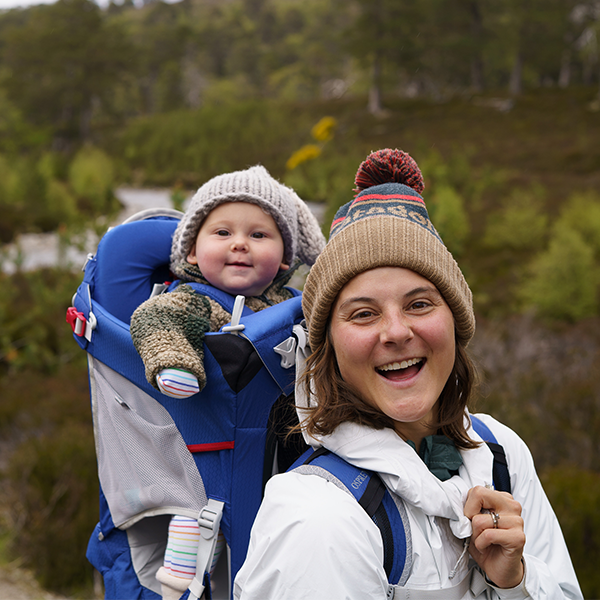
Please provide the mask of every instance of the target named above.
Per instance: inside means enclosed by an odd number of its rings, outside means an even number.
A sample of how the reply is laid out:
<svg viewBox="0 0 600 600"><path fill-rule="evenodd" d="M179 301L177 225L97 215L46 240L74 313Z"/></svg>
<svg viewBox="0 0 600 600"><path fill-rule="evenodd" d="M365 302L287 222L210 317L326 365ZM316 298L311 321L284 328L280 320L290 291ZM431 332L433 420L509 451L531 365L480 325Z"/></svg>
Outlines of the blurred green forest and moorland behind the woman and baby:
<svg viewBox="0 0 600 600"><path fill-rule="evenodd" d="M598 598L599 34L596 0L0 12L0 241L82 245L117 214L118 186L169 188L180 206L256 163L323 203L327 232L369 151L410 152L474 292L477 409L530 445ZM65 323L80 280L70 265L0 273L0 559L85 598L98 488L85 357Z"/></svg>

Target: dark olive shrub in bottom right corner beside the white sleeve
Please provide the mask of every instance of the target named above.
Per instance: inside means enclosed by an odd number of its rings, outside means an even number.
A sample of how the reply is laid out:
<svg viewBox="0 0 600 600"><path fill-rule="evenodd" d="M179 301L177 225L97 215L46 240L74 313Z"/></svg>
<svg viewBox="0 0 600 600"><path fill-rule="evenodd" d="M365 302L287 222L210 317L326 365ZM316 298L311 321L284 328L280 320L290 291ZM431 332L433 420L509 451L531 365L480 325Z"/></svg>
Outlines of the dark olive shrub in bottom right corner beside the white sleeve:
<svg viewBox="0 0 600 600"><path fill-rule="evenodd" d="M556 512L584 598L600 598L600 474L565 466L541 477Z"/></svg>

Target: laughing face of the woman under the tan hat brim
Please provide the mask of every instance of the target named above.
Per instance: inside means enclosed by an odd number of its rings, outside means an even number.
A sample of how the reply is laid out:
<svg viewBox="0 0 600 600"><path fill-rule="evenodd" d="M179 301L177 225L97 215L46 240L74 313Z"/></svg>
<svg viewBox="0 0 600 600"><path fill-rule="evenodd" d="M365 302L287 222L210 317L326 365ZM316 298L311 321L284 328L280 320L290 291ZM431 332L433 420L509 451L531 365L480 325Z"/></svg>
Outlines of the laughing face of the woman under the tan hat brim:
<svg viewBox="0 0 600 600"><path fill-rule="evenodd" d="M417 446L432 431L454 366L454 318L437 288L414 271L380 267L350 280L331 315L342 378Z"/></svg>

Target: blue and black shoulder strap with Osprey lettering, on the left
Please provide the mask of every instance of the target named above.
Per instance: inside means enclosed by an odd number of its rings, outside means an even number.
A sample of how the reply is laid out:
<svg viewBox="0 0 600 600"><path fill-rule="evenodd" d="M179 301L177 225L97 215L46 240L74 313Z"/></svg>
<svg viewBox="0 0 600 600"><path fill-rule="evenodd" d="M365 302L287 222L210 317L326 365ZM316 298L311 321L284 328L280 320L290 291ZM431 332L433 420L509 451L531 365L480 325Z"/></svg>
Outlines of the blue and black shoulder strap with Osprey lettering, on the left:
<svg viewBox="0 0 600 600"><path fill-rule="evenodd" d="M394 502L379 475L359 469L325 448L307 450L290 470L324 477L354 496L381 533L388 582L404 585L412 565L408 515L403 505Z"/></svg>

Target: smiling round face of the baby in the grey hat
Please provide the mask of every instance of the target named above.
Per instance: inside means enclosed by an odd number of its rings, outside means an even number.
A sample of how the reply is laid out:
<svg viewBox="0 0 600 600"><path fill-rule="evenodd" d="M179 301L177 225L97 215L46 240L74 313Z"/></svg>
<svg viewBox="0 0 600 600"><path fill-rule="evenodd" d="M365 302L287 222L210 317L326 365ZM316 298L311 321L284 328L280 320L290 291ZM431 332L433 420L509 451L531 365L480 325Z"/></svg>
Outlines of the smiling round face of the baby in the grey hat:
<svg viewBox="0 0 600 600"><path fill-rule="evenodd" d="M273 217L256 204L226 202L206 217L187 258L216 288L258 296L283 264L283 239Z"/></svg>

